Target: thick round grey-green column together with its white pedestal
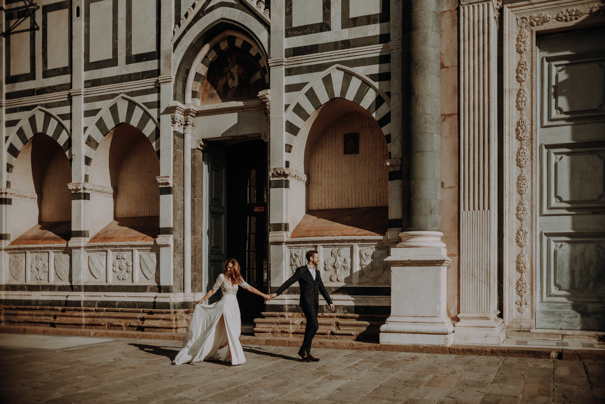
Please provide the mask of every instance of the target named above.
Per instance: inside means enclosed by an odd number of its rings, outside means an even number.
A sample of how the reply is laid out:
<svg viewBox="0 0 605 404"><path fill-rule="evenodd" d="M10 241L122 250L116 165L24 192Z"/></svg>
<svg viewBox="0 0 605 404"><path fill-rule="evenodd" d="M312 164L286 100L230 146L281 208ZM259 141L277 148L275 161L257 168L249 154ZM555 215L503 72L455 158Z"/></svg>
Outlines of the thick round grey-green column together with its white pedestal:
<svg viewBox="0 0 605 404"><path fill-rule="evenodd" d="M391 267L391 316L381 326L380 342L451 345L454 326L446 305L451 259L440 232L439 0L414 0L403 7L405 231L385 259Z"/></svg>

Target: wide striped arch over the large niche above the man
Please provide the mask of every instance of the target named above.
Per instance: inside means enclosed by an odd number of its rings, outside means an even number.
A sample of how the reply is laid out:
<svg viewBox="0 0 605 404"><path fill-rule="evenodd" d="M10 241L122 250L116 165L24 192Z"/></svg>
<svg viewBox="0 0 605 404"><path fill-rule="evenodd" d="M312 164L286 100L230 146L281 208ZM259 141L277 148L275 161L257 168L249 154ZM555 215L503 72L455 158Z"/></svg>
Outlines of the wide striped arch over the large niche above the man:
<svg viewBox="0 0 605 404"><path fill-rule="evenodd" d="M391 100L378 85L355 70L335 65L309 82L286 110L286 132L290 141L302 125L326 102L344 98L368 111L380 125L390 144ZM290 142L291 143L291 142ZM390 145L389 145L390 147Z"/></svg>

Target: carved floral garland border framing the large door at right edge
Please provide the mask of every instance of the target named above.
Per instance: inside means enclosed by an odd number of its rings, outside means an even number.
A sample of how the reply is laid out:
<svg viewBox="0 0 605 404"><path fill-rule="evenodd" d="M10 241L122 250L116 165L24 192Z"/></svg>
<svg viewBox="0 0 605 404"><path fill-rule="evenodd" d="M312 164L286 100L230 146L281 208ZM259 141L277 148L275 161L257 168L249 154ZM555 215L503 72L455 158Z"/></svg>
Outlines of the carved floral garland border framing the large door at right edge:
<svg viewBox="0 0 605 404"><path fill-rule="evenodd" d="M515 165L516 188L517 188L517 230L515 232L515 244L517 245L517 258L515 269L518 279L515 282L515 291L518 299L515 306L518 313L530 316L531 313L531 178L532 178L532 128L531 116L531 83L532 67L529 62L531 55L532 30L544 25L554 25L578 21L588 16L605 16L605 4L592 3L578 5L576 8L564 8L559 10L548 10L545 12L529 13L517 16L517 37L515 50L517 51L517 63L515 68L515 80L517 82L515 108L517 110L517 122L515 125L515 139L517 139L517 153Z"/></svg>

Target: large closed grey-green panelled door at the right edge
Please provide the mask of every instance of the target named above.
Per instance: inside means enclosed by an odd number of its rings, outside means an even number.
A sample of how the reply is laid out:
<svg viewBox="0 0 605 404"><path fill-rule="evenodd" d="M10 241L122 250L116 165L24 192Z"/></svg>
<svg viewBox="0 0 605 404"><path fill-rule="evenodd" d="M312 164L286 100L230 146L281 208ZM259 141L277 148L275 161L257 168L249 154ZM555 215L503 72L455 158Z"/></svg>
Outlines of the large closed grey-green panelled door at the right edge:
<svg viewBox="0 0 605 404"><path fill-rule="evenodd" d="M605 330L605 27L539 35L537 328Z"/></svg>

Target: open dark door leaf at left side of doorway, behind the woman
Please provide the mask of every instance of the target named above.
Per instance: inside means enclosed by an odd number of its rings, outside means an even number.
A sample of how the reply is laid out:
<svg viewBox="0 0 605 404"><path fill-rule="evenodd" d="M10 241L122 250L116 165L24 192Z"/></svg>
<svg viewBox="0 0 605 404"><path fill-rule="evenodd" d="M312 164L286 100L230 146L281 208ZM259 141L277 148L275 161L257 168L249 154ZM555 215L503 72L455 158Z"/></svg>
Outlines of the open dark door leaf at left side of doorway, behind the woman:
<svg viewBox="0 0 605 404"><path fill-rule="evenodd" d="M226 153L220 148L208 147L208 287L214 285L219 274L224 272L223 263L227 259L226 236ZM211 301L220 299L221 293L215 293Z"/></svg>

